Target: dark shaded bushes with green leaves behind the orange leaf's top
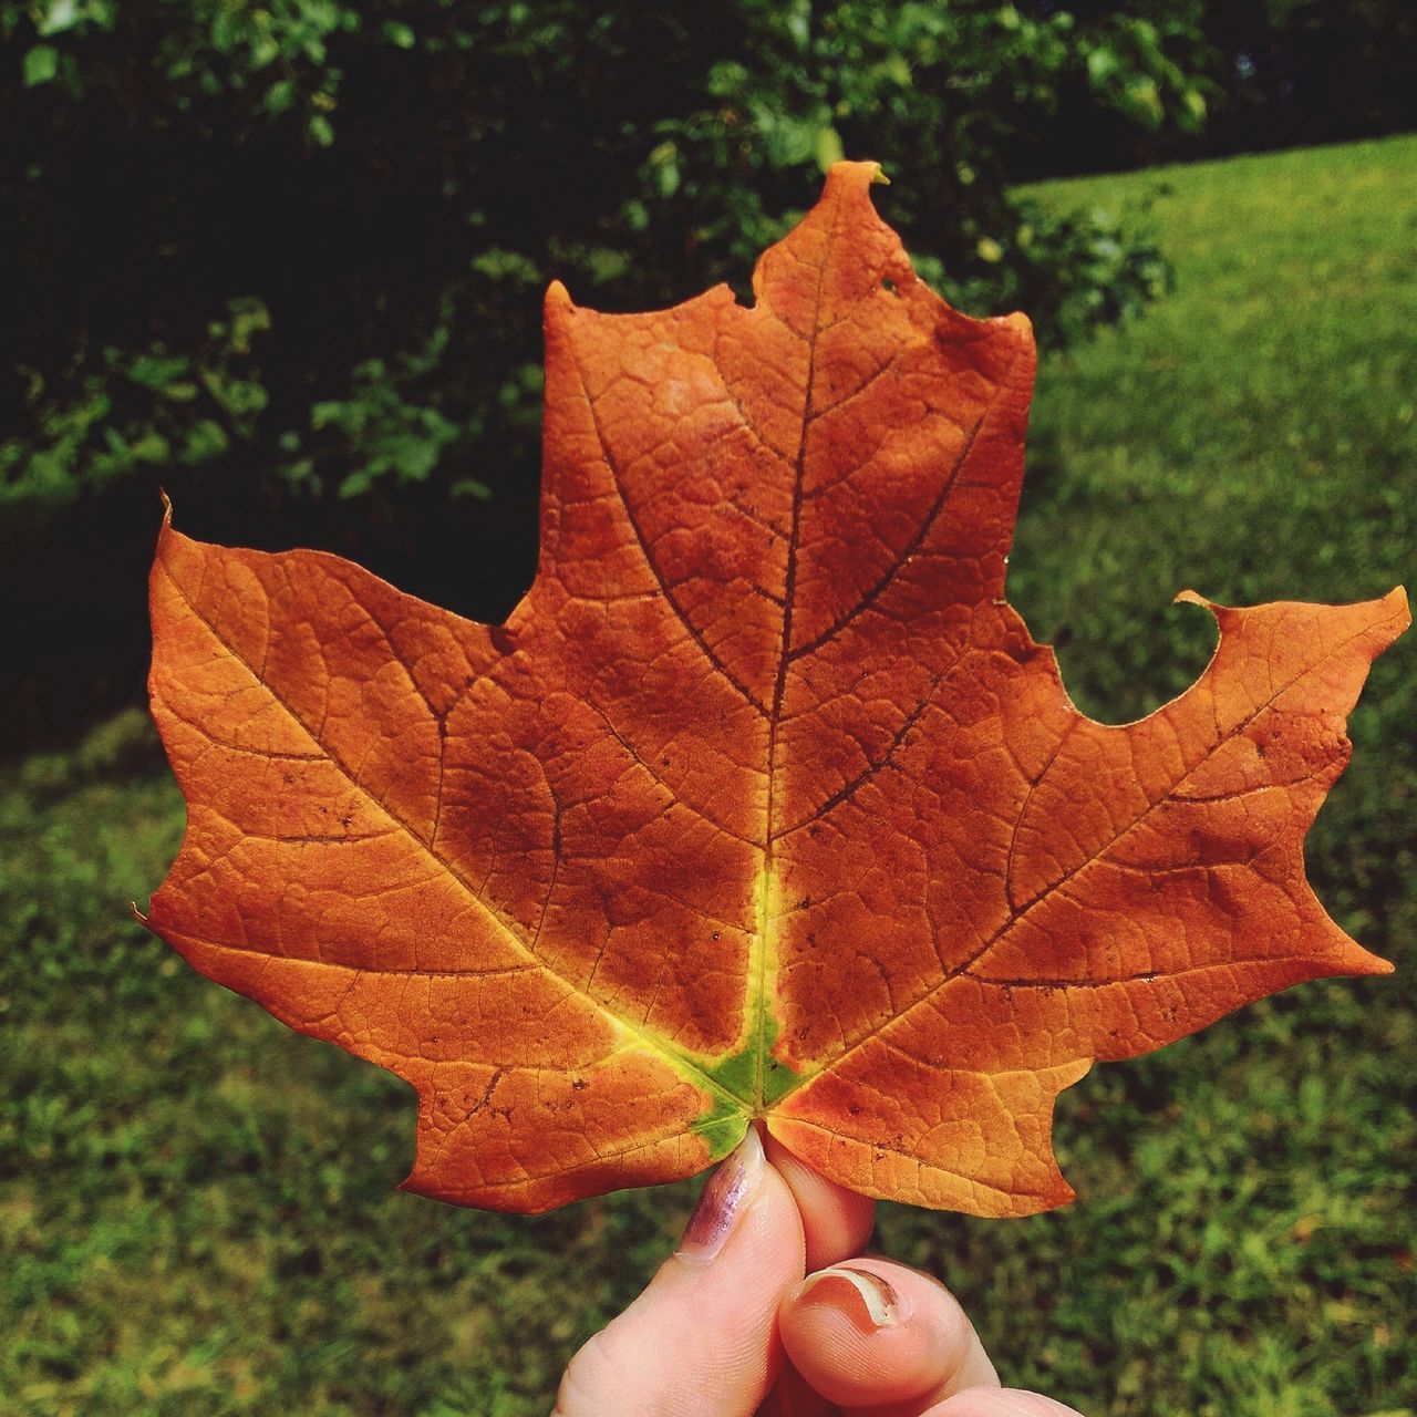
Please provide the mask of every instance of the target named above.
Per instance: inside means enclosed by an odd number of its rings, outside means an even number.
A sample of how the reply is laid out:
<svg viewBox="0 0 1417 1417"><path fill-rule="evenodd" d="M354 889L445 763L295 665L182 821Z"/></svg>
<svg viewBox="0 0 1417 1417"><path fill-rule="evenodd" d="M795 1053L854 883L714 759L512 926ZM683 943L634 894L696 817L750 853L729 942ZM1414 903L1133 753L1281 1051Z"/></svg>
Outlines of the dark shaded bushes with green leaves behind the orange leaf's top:
<svg viewBox="0 0 1417 1417"><path fill-rule="evenodd" d="M843 153L897 176L893 222L966 307L1053 341L1117 322L1155 247L1010 197L1006 153L1068 84L1196 126L1185 27L1145 9L0 0L0 506L28 534L132 476L521 485L547 281L609 309L744 286Z"/></svg>

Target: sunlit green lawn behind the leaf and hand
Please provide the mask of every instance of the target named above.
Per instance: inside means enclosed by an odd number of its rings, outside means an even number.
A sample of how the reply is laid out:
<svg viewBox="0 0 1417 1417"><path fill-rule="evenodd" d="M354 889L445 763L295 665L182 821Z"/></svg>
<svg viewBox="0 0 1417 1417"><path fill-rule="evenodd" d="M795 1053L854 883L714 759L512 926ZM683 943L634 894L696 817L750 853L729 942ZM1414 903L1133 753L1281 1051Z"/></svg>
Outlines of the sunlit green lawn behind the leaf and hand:
<svg viewBox="0 0 1417 1417"><path fill-rule="evenodd" d="M1183 585L1349 599L1417 548L1417 140L1058 184L1155 221L1176 293L1046 364L1012 594L1093 713L1210 645ZM1090 1417L1411 1417L1417 653L1311 837L1394 979L1306 985L1063 1101L1081 1200L883 1207L1010 1382ZM394 1195L401 1084L196 978L125 915L180 830L142 721L0 775L0 1411L523 1417L691 1186L538 1220Z"/></svg>

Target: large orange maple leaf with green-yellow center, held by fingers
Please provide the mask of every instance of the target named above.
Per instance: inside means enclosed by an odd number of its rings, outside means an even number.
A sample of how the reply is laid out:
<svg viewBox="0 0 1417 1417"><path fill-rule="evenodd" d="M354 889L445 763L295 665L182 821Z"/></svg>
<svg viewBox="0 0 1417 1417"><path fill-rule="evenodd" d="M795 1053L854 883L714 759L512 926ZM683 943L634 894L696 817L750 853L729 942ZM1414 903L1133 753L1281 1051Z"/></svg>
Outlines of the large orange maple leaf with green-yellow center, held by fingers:
<svg viewBox="0 0 1417 1417"><path fill-rule="evenodd" d="M149 922L417 1088L414 1190L540 1210L762 1119L854 1190L1023 1214L1071 1195L1093 1060L1389 968L1301 847L1401 591L1210 606L1186 693L1083 717L1003 599L1029 324L928 290L877 174L832 169L751 309L553 285L503 626L164 520L188 829Z"/></svg>

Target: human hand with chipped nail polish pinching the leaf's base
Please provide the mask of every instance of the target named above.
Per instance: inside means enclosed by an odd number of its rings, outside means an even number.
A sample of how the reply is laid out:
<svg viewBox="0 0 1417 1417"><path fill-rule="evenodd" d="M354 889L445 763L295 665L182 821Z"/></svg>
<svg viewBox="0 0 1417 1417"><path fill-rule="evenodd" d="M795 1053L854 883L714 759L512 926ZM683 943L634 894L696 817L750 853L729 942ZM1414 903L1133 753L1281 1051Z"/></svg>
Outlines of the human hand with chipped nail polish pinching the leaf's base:
<svg viewBox="0 0 1417 1417"><path fill-rule="evenodd" d="M1078 1417L1000 1387L942 1285L860 1258L871 1200L767 1148L750 1129L714 1172L673 1257L571 1359L553 1417Z"/></svg>

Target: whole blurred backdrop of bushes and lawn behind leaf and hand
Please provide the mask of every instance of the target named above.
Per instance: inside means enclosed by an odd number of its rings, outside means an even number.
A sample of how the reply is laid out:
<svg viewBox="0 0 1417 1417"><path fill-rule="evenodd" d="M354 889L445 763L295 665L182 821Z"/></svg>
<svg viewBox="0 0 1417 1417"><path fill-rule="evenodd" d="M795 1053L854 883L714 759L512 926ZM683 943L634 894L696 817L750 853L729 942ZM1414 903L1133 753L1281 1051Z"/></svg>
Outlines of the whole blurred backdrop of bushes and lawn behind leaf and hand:
<svg viewBox="0 0 1417 1417"><path fill-rule="evenodd" d="M1408 0L0 0L0 1413L523 1417L694 1186L391 1193L412 1098L128 917L159 487L479 619L536 555L540 298L727 281L836 157L1043 341L1010 597L1097 717L1417 550ZM1105 174L1105 176L1100 176ZM1413 966L1417 656L1309 839ZM1006 1380L1090 1417L1414 1417L1417 1006L1305 985L1064 1097L1066 1212L884 1207Z"/></svg>

